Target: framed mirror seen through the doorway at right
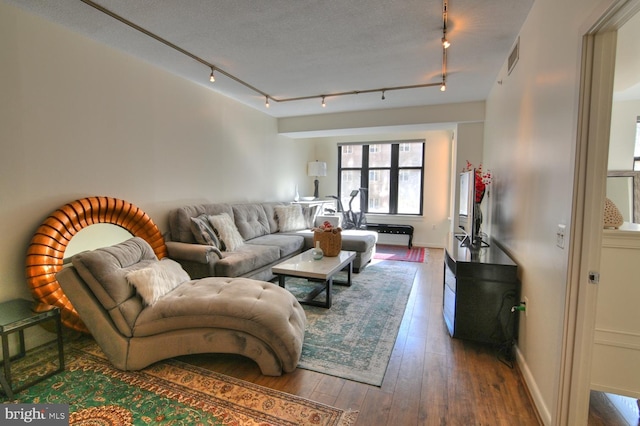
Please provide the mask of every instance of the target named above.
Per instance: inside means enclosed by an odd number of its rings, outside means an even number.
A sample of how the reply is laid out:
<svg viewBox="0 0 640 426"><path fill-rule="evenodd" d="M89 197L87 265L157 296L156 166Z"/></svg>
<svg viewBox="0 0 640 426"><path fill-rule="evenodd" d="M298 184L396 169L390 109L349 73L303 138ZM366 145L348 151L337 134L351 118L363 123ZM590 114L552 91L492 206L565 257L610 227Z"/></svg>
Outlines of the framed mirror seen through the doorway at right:
<svg viewBox="0 0 640 426"><path fill-rule="evenodd" d="M607 198L618 207L625 222L640 223L640 171L610 170Z"/></svg>

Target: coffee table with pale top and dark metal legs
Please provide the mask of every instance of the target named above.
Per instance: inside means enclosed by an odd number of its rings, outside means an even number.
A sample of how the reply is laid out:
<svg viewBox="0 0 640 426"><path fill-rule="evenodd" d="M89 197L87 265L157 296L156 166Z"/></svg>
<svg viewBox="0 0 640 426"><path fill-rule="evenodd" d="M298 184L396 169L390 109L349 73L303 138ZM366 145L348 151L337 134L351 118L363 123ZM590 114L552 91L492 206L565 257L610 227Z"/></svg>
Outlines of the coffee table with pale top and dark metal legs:
<svg viewBox="0 0 640 426"><path fill-rule="evenodd" d="M331 288L333 284L351 285L351 274L353 273L353 259L356 257L354 251L341 251L335 257L323 257L320 260L314 260L311 256L311 250L300 253L290 259L285 260L274 266L272 271L278 275L278 284L285 288L286 277L306 278L307 281L316 283L315 288L300 303L307 305L320 306L323 308L331 307ZM347 281L335 281L333 276L343 269L347 268ZM325 292L324 302L314 300L320 293Z"/></svg>

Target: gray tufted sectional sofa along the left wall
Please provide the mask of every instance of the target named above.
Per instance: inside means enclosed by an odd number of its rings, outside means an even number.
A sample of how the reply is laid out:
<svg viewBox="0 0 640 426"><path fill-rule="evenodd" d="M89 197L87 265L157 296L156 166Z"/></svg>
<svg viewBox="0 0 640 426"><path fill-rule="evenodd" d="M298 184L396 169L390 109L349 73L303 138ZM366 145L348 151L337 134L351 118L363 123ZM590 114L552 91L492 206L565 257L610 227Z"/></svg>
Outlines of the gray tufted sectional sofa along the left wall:
<svg viewBox="0 0 640 426"><path fill-rule="evenodd" d="M269 281L274 278L273 265L313 247L316 209L278 202L180 207L169 213L167 251L193 279L226 276ZM196 225L225 214L233 222L233 235L221 238L216 232L211 236ZM356 252L355 272L373 258L377 238L371 231L342 232L342 249Z"/></svg>

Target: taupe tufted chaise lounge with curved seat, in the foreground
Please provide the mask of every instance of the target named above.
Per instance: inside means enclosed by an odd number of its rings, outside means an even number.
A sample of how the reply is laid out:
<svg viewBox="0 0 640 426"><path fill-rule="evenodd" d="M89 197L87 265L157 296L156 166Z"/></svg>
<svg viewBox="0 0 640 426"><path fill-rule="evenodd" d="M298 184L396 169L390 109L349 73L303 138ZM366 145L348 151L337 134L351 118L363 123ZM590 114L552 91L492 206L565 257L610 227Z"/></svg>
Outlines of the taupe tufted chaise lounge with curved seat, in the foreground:
<svg viewBox="0 0 640 426"><path fill-rule="evenodd" d="M158 260L141 238L79 253L71 263L56 278L119 369L138 370L195 353L240 354L270 376L298 364L306 316L275 284L191 280L177 262Z"/></svg>

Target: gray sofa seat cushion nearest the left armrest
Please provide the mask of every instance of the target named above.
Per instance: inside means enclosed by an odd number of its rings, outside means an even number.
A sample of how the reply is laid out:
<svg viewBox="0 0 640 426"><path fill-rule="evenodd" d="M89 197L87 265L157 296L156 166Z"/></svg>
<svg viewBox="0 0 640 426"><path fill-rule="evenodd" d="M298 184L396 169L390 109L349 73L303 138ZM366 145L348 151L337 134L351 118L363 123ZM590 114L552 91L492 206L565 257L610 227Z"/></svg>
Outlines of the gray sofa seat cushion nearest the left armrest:
<svg viewBox="0 0 640 426"><path fill-rule="evenodd" d="M241 277L280 259L280 249L276 246L243 244L232 252L223 252L222 259L215 264L219 277Z"/></svg>

